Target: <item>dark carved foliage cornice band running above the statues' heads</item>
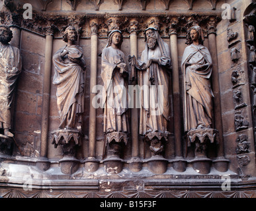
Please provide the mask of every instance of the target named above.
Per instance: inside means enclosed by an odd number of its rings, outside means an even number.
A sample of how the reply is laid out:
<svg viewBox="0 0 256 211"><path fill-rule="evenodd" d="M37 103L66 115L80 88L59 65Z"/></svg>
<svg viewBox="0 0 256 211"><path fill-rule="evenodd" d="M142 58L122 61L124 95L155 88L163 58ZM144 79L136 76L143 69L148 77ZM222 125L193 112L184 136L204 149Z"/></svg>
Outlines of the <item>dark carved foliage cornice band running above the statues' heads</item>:
<svg viewBox="0 0 256 211"><path fill-rule="evenodd" d="M125 2L125 1L124 1ZM18 8L17 10L7 9L0 12L1 23L8 25L17 25L26 30L42 34L46 36L47 34L53 34L56 37L62 37L62 32L69 25L77 26L79 28L80 36L83 38L90 38L92 29L90 27L90 20L95 18L98 20L98 34L99 37L107 37L107 32L111 30L110 28L120 29L124 37L129 37L131 30L130 21L134 18L138 20L136 24L136 32L139 37L143 37L143 31L148 28L151 18L157 18L154 24L157 24L159 28L160 35L162 37L168 37L170 34L177 34L178 36L186 36L187 29L198 24L202 27L204 35L215 32L216 24L221 20L221 11L217 9L210 10L200 13L194 13L194 11L184 12L171 12L171 11L155 11L153 15L147 11L138 12L115 12L115 13L103 13L103 12L93 12L93 13L79 13L77 11L67 12L62 11L58 13L45 12L45 11L33 11L32 19L22 18L22 13L24 10ZM120 24L110 26L109 20L114 20L114 24ZM118 21L117 21L118 19ZM212 22L214 20L214 22ZM117 21L117 22L116 22ZM111 23L113 24L113 22Z"/></svg>

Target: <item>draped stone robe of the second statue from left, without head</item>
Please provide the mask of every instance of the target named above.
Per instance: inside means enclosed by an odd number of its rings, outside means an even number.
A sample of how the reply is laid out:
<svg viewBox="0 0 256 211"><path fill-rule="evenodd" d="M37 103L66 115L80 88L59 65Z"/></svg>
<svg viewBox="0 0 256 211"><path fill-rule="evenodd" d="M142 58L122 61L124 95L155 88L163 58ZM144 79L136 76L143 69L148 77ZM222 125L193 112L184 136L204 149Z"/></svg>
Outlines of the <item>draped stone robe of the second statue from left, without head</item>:
<svg viewBox="0 0 256 211"><path fill-rule="evenodd" d="M55 75L53 84L57 86L57 105L60 115L59 129L76 129L81 123L81 114L84 111L84 86L85 86L85 57L81 57L79 64L70 61L67 55L61 57L64 48L69 53L77 53L82 49L78 45L70 45L59 49L53 57ZM83 54L82 54L83 55Z"/></svg>

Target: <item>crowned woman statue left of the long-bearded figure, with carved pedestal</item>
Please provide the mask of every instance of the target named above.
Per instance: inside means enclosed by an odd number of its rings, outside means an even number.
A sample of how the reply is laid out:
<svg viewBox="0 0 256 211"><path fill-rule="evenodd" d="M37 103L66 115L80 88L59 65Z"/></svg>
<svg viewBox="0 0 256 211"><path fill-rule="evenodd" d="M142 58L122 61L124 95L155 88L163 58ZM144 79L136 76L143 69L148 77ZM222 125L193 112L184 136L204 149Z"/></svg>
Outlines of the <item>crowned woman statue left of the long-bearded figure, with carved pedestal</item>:
<svg viewBox="0 0 256 211"><path fill-rule="evenodd" d="M128 125L128 69L122 45L122 32L112 30L108 44L101 57L101 78L104 82L104 133L108 150L107 156L122 156L122 145L127 144Z"/></svg>

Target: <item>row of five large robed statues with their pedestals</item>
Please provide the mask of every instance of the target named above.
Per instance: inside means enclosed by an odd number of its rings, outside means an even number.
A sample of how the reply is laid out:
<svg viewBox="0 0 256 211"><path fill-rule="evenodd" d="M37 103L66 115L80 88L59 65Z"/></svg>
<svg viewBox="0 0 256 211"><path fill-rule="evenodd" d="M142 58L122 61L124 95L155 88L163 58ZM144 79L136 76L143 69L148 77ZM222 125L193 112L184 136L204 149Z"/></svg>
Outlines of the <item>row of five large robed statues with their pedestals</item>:
<svg viewBox="0 0 256 211"><path fill-rule="evenodd" d="M10 105L17 76L21 72L19 49L9 45L11 36L7 26L0 26L0 128L2 136L13 136ZM11 33L10 33L11 34ZM103 92L103 132L105 134L105 169L122 163L122 154L129 139L128 84L136 78L140 87L139 134L149 142L151 161L163 161L165 144L170 135L169 84L171 76L171 55L169 45L163 42L157 28L149 27L144 32L145 49L141 59L134 55L126 57L121 50L122 32L111 30L101 54L101 78ZM83 136L83 114L85 97L85 55L76 45L75 27L65 29L63 40L67 43L53 56L54 78L60 125L52 132L52 143L61 145L64 151L62 172L73 173L65 162L74 161L75 145L81 144ZM9 39L7 39L9 38ZM218 131L212 129L214 98L210 87L212 59L203 45L204 36L200 26L193 26L187 34L187 44L181 63L183 75L183 118L184 131L189 144L195 142L195 157L207 158L206 142L214 142ZM126 62L128 61L128 63ZM1 136L1 137L2 137ZM198 150L200 149L200 150ZM201 153L198 153L198 152ZM153 163L154 164L154 163ZM116 173L120 172L122 167ZM152 169L153 171L153 169ZM108 172L112 172L109 170Z"/></svg>

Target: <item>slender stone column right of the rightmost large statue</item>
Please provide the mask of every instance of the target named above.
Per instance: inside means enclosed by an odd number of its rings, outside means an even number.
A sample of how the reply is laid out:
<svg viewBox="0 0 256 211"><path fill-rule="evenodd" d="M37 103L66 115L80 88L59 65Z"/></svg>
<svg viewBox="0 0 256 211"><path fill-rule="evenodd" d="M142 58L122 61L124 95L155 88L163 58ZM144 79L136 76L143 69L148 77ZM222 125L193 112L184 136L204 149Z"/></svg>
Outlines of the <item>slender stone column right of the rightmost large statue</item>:
<svg viewBox="0 0 256 211"><path fill-rule="evenodd" d="M208 20L208 42L209 51L212 55L212 91L214 93L214 125L219 133L219 144L217 145L217 158L214 160L214 167L218 171L228 170L228 160L224 157L223 131L222 131L222 111L220 104L220 84L218 76L218 57L216 47L216 18L210 17Z"/></svg>

